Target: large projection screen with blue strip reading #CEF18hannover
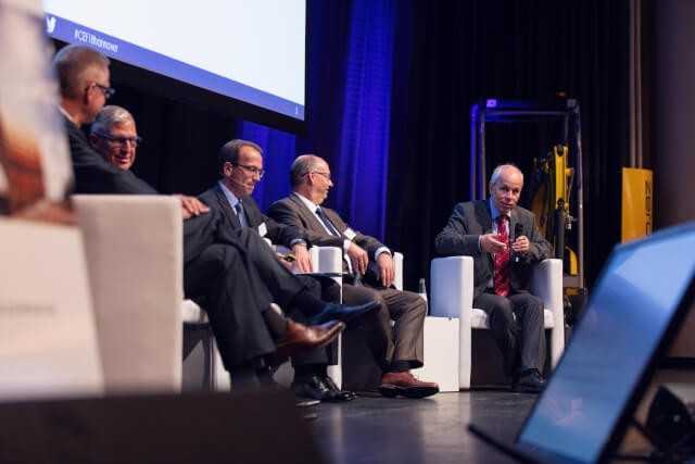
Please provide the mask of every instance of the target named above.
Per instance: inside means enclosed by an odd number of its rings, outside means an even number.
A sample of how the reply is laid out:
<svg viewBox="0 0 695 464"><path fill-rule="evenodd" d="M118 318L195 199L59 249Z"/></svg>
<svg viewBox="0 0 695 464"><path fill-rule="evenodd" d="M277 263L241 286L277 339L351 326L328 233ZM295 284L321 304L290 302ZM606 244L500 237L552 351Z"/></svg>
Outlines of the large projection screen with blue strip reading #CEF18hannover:
<svg viewBox="0 0 695 464"><path fill-rule="evenodd" d="M59 40L304 121L306 0L43 0Z"/></svg>

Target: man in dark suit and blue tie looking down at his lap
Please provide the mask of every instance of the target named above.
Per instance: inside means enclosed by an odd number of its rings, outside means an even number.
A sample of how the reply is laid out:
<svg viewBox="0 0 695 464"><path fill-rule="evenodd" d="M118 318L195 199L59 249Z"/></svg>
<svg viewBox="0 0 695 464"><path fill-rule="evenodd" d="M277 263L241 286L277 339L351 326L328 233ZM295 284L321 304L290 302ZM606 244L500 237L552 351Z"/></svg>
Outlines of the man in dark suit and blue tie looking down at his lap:
<svg viewBox="0 0 695 464"><path fill-rule="evenodd" d="M231 140L219 150L218 161L222 179L202 193L200 200L208 204L213 211L219 212L229 229L249 228L275 244L290 248L296 268L304 273L312 272L304 231L298 227L279 224L266 216L251 197L264 174L263 149L252 141ZM340 287L332 279L324 278L319 284L317 278L299 277L308 287L316 288L319 296L323 293L324 300L339 300ZM355 312L352 316L361 314ZM290 315L300 322L311 322L296 311ZM321 401L350 401L355 398L352 392L341 391L326 374L328 356L325 349L298 353L292 358L292 364L295 371L293 389L298 396Z"/></svg>

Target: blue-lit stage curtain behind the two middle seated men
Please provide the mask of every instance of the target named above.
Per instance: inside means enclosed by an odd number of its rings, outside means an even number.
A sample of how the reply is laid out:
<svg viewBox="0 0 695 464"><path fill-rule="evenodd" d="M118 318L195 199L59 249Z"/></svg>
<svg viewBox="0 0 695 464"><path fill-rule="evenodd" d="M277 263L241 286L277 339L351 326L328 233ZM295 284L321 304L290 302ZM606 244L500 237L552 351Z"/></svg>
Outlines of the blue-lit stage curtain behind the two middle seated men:
<svg viewBox="0 0 695 464"><path fill-rule="evenodd" d="M248 122L238 127L240 138L266 153L268 174L254 193L261 208L288 195L292 160L315 153L331 165L336 187L328 204L354 228L383 239L395 5L394 0L353 0L348 7L308 2L313 114L306 136Z"/></svg>

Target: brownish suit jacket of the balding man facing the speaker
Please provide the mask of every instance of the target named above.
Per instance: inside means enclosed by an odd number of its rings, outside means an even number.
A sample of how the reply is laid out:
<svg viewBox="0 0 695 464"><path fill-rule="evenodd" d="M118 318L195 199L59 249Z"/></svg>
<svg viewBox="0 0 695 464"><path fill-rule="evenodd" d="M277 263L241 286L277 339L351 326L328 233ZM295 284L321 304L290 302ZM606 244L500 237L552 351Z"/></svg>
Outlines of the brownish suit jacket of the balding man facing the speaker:
<svg viewBox="0 0 695 464"><path fill-rule="evenodd" d="M302 203L302 200L300 200L296 193L292 193L273 203L270 209L268 209L268 216L278 223L305 229L306 237L312 244L319 247L339 247L342 250L343 241L350 239L350 237L345 235L350 226L345 224L333 210L324 206L321 206L321 210L324 210L342 237L328 234L320 221ZM363 235L357 230L353 230L353 233L355 237L352 241L367 250L369 260L374 260L374 253L383 247L383 244L376 238Z"/></svg>

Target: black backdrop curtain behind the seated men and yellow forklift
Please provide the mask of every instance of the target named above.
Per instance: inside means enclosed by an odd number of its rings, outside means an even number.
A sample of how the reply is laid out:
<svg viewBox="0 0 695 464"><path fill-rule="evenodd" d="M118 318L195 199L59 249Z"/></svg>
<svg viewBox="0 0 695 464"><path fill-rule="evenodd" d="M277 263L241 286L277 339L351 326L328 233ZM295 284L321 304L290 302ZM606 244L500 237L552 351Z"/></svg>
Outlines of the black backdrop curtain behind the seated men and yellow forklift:
<svg viewBox="0 0 695 464"><path fill-rule="evenodd" d="M355 0L356 1L356 0ZM332 89L344 79L352 1L309 0L308 131L298 150L330 151L341 117ZM628 158L628 0L400 0L395 2L388 227L406 255L406 287L428 276L435 234L468 200L469 112L480 98L579 100L584 152L585 256L591 283L619 240L620 167ZM239 122L202 103L160 96L150 83L118 88L146 143L136 172L162 192L199 193L216 179L218 147ZM176 97L176 96L174 96ZM311 117L311 114L309 114ZM495 160L520 161L528 131L493 136ZM326 148L321 151L323 148ZM340 204L333 206L341 208Z"/></svg>

